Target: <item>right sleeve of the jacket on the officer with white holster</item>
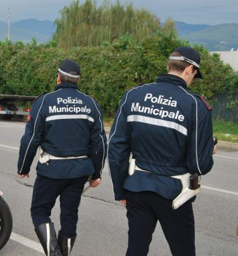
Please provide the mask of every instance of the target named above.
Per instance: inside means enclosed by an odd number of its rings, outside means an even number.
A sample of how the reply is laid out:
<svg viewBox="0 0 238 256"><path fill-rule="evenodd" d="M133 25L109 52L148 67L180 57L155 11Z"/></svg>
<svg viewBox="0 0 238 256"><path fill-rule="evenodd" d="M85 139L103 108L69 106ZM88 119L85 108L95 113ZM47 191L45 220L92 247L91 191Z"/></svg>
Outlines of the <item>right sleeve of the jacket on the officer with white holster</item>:
<svg viewBox="0 0 238 256"><path fill-rule="evenodd" d="M190 173L204 175L213 167L213 122L209 111L200 99L194 105L192 130L188 140L186 164Z"/></svg>

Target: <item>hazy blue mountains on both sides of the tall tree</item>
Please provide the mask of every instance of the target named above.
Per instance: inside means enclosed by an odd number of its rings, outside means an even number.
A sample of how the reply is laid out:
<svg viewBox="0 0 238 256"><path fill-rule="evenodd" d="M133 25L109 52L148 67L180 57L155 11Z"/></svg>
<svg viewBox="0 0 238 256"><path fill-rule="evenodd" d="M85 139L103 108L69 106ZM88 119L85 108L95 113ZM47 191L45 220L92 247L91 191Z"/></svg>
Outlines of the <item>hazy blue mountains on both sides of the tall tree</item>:
<svg viewBox="0 0 238 256"><path fill-rule="evenodd" d="M206 24L186 24L175 22L178 37L188 40L190 44L203 44L211 51L237 50L238 24L221 24L209 26ZM10 40L13 42L31 42L32 38L40 43L48 42L56 31L54 22L49 20L23 19L10 25ZM7 24L0 22L0 40L7 38Z"/></svg>

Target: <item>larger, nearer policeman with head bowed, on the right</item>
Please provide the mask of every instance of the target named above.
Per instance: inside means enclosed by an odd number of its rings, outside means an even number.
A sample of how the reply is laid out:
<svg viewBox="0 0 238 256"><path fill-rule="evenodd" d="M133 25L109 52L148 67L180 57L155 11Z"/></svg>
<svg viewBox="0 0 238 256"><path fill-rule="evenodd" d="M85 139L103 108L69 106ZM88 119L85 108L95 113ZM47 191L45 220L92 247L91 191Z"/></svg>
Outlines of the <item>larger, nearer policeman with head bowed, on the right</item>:
<svg viewBox="0 0 238 256"><path fill-rule="evenodd" d="M204 175L213 167L211 108L187 88L202 79L199 65L198 52L180 47L170 55L168 74L129 89L119 104L108 159L115 200L127 208L126 256L147 255L158 221L172 255L195 255L194 198L177 210L172 202L183 189L176 175ZM131 153L135 171L128 175Z"/></svg>

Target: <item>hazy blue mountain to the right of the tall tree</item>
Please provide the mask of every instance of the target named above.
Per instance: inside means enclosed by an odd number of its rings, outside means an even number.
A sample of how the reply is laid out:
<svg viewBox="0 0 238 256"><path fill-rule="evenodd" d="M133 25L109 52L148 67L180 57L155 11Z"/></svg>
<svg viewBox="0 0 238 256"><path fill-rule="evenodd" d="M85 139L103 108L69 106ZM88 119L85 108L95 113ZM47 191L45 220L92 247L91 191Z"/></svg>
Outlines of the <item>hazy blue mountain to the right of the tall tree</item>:
<svg viewBox="0 0 238 256"><path fill-rule="evenodd" d="M190 44L203 44L211 51L237 50L238 48L238 24L221 24L209 26L204 30L184 34L180 38L186 39Z"/></svg>

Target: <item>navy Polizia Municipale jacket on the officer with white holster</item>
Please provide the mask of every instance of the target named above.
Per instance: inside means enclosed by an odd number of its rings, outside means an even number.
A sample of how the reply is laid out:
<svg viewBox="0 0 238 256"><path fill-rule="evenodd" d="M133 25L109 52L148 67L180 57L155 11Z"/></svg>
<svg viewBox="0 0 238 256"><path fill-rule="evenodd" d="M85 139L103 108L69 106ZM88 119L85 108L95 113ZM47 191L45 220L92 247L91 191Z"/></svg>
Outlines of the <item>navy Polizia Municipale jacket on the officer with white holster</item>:
<svg viewBox="0 0 238 256"><path fill-rule="evenodd" d="M125 190L154 191L173 200L182 183L172 175L204 175L213 167L211 111L175 75L129 89L121 99L109 137L108 159L115 200ZM145 173L128 175L129 155Z"/></svg>

